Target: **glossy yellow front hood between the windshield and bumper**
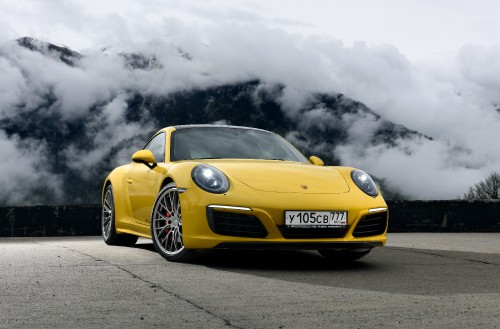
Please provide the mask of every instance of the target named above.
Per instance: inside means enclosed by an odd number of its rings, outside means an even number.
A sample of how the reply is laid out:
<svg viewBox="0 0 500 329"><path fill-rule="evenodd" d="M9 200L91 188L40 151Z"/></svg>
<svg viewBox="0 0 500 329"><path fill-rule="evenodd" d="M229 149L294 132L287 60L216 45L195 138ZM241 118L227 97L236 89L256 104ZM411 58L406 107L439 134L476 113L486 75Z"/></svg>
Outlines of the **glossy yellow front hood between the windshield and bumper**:
<svg viewBox="0 0 500 329"><path fill-rule="evenodd" d="M283 161L213 162L226 175L259 191L336 194L349 192L334 167Z"/></svg>

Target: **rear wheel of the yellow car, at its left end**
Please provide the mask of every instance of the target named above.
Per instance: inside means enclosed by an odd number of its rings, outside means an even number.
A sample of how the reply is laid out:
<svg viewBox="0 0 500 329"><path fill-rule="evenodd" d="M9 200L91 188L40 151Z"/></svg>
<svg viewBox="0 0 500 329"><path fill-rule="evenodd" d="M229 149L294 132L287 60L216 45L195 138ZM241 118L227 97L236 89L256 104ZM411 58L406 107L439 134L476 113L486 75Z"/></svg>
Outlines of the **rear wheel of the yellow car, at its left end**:
<svg viewBox="0 0 500 329"><path fill-rule="evenodd" d="M132 246L137 242L137 236L116 233L115 199L111 184L104 191L102 200L101 232L104 242L114 246Z"/></svg>

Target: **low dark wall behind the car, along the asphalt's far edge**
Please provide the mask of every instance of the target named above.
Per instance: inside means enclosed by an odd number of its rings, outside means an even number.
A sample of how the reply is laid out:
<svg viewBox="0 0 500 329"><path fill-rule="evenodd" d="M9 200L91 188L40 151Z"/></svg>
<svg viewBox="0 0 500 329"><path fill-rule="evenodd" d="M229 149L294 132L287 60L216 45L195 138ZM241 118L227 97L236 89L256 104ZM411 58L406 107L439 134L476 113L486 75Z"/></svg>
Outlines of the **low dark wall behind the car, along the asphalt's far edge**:
<svg viewBox="0 0 500 329"><path fill-rule="evenodd" d="M389 232L500 232L499 201L388 201ZM0 207L0 237L100 235L101 206Z"/></svg>

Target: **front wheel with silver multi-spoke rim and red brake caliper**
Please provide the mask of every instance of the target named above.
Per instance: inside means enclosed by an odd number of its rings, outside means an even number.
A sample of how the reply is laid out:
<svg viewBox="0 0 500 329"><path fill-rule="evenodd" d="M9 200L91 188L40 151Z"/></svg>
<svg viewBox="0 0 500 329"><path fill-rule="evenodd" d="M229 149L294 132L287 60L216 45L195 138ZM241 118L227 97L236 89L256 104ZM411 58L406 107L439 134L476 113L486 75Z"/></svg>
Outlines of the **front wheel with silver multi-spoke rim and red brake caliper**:
<svg viewBox="0 0 500 329"><path fill-rule="evenodd" d="M182 239L182 213L175 183L167 184L156 197L151 213L151 238L156 251L172 262L196 258L195 250L186 249Z"/></svg>

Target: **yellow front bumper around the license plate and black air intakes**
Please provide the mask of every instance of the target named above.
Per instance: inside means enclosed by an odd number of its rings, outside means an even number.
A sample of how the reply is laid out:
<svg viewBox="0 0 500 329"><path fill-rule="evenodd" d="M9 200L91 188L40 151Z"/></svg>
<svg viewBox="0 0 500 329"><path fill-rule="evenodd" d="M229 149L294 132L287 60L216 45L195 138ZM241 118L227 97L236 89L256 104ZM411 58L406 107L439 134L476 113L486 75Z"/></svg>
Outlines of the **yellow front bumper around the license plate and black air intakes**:
<svg viewBox="0 0 500 329"><path fill-rule="evenodd" d="M189 188L180 194L180 200L183 241L184 246L189 249L371 249L383 246L387 241L387 210L383 210L387 209L385 201L380 195L373 198L361 191L305 195L261 192L240 185L233 186L225 194L211 194L199 188ZM237 216L240 214L240 217L256 217L265 228L265 233L258 236L217 234L213 222L210 223L209 220L210 212L214 209ZM375 211L370 212L370 209ZM285 210L347 211L348 225L341 232L332 231L326 235L299 234L294 237L283 231ZM373 213L385 214L384 227L375 235L356 234L360 221Z"/></svg>

